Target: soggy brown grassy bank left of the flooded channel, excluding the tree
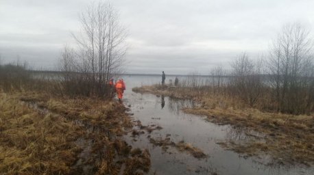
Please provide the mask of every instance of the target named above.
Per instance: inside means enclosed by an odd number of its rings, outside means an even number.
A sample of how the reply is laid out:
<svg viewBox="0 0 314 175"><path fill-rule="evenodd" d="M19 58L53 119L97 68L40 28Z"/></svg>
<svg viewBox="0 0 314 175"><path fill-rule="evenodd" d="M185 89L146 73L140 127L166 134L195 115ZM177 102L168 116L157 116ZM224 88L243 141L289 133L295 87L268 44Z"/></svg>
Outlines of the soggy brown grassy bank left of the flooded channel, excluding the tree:
<svg viewBox="0 0 314 175"><path fill-rule="evenodd" d="M111 100L0 93L0 172L3 174L136 174L149 152L121 139L132 127Z"/></svg>

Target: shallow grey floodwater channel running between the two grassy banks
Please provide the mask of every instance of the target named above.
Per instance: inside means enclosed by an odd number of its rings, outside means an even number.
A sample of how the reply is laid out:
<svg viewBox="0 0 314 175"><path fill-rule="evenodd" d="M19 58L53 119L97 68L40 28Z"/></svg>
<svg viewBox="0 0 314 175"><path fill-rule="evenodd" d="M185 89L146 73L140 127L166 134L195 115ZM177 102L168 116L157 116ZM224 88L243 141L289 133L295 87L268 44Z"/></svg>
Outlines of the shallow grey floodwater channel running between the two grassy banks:
<svg viewBox="0 0 314 175"><path fill-rule="evenodd" d="M151 154L152 167L149 174L313 174L313 167L304 165L287 166L273 163L267 156L243 157L241 154L224 150L218 142L245 140L246 131L232 126L219 126L180 111L182 107L193 107L189 100L173 100L169 97L152 94L137 94L132 87L158 83L159 77L125 77L127 90L123 103L131 109L134 121L143 126L160 126L160 129L147 131L134 126L142 133L129 133L125 140L132 147L147 148ZM147 81L145 81L148 79ZM154 82L155 81L155 82ZM143 83L145 82L145 83ZM254 133L258 134L258 133ZM150 140L169 139L171 142L185 142L199 148L206 158L197 159L189 152L182 152L173 146L167 149Z"/></svg>

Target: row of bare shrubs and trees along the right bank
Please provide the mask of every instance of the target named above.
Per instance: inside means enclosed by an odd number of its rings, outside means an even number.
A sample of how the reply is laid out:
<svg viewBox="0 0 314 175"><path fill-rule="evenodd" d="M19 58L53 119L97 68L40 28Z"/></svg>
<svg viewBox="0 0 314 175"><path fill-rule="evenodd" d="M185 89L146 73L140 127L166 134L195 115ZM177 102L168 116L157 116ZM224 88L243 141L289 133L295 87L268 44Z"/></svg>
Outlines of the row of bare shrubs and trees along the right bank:
<svg viewBox="0 0 314 175"><path fill-rule="evenodd" d="M314 57L310 31L300 23L282 27L269 49L269 56L250 58L242 53L228 71L210 71L210 79L191 75L183 87L203 94L223 94L247 107L263 111L310 114L314 111Z"/></svg>

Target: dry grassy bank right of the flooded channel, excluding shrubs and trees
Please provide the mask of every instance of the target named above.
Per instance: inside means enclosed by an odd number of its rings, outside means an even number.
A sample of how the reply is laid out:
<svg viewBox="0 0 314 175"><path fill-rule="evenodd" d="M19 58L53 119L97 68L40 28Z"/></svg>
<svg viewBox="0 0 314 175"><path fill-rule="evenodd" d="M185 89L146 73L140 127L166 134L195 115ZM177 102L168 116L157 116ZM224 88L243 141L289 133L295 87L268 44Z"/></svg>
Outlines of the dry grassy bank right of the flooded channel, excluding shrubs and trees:
<svg viewBox="0 0 314 175"><path fill-rule="evenodd" d="M314 164L314 118L310 116L271 113L246 107L226 94L206 93L188 87L160 85L136 87L134 92L152 93L172 98L193 99L199 107L184 109L187 113L206 116L216 124L230 124L246 139L217 142L245 157L269 155L275 162ZM258 133L258 134L257 134ZM235 136L237 137L237 136Z"/></svg>

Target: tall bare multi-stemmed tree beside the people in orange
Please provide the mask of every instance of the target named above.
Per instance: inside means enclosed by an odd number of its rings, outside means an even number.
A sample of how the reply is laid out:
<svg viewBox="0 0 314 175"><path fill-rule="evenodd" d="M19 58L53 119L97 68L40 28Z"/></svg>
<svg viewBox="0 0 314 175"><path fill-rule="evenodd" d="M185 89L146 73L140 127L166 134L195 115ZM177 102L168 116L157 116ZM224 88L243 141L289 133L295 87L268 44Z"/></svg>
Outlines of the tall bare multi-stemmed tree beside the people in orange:
<svg viewBox="0 0 314 175"><path fill-rule="evenodd" d="M110 3L92 3L80 14L81 31L73 34L78 49L69 54L64 49L63 68L79 72L81 79L88 82L89 94L103 95L108 91L108 81L121 70L125 55L125 28L119 15ZM75 55L75 58L72 58ZM83 80L81 80L83 81Z"/></svg>

